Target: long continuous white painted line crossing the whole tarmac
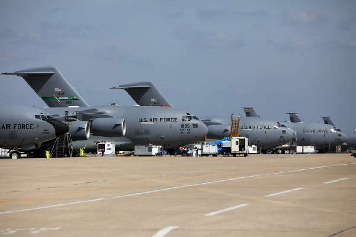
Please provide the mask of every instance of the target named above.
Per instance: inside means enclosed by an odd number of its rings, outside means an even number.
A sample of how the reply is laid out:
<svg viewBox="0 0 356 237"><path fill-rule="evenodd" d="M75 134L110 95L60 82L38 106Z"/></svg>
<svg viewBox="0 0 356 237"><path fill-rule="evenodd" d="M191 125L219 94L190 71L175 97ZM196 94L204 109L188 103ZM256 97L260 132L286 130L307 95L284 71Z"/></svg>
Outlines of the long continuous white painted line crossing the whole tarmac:
<svg viewBox="0 0 356 237"><path fill-rule="evenodd" d="M176 186L176 187L171 187L171 188L162 188L162 189L156 189L156 190L151 190L151 191L145 191L145 192L140 192L140 193L132 193L132 194L126 194L126 195L120 195L120 196L112 196L112 197L108 197L108 198L97 198L97 199L89 199L89 200L84 200L84 201L74 201L72 203L63 203L63 204L50 205L50 206L40 206L40 207L37 207L37 208L19 209L19 210L12 210L12 211L3 211L3 212L0 212L0 215L8 214L8 213L14 213L14 212L32 211L32 210L46 209L46 208L56 208L58 206L67 206L67 205L79 204L79 203L90 203L90 202L93 202L93 201L102 201L102 200L115 199L115 198L126 198L126 197L129 197L129 196L136 196L136 195L147 194L147 193L156 193L156 192L161 192L161 191L166 191L166 190L194 187L194 186L205 185L205 184L220 183L220 182L232 181L232 180L237 180L237 179L254 178L254 177L268 176L268 175L274 175L274 174L294 173L294 172L299 172L299 171L307 171L307 170L312 170L312 169L330 168L330 167L346 166L346 165L356 165L356 163L346 163L346 164L333 165L333 166L310 167L310 168L305 168L305 169L296 169L296 170L292 170L292 171L283 171L283 172L267 173L267 174L255 174L255 175L236 177L236 178L230 178L230 179L220 179L220 180L204 182L204 183L188 184L188 185Z"/></svg>

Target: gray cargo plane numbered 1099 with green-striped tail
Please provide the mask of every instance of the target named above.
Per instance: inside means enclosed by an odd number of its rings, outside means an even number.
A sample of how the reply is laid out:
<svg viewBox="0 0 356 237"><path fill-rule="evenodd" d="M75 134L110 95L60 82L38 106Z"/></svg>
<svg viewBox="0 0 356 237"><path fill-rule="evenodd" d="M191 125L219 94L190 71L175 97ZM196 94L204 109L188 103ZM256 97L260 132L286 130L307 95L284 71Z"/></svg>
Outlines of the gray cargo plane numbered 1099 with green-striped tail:
<svg viewBox="0 0 356 237"><path fill-rule="evenodd" d="M47 105L52 106L44 108L48 114L61 117L64 111L68 111L81 121L89 121L90 132L94 136L101 136L89 139L89 147L92 147L94 140L115 137L115 140L120 140L117 144L122 144L117 150L133 150L135 145L159 144L164 149L173 151L176 147L204 140L208 133L204 123L179 109L115 104L88 107L55 67L30 68L4 75L23 77ZM117 137L122 137L122 140ZM82 144L83 142L74 146Z"/></svg>

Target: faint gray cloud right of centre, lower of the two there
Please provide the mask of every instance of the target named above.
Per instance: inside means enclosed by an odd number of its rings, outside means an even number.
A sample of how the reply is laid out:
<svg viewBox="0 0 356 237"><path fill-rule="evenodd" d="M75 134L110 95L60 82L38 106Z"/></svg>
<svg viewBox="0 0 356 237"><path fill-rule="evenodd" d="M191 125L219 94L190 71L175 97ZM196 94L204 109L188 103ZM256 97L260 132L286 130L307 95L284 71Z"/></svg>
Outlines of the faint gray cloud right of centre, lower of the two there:
<svg viewBox="0 0 356 237"><path fill-rule="evenodd" d="M171 32L174 36L188 40L194 46L203 48L236 48L245 45L241 39L235 39L223 32L205 32L190 26L179 26Z"/></svg>

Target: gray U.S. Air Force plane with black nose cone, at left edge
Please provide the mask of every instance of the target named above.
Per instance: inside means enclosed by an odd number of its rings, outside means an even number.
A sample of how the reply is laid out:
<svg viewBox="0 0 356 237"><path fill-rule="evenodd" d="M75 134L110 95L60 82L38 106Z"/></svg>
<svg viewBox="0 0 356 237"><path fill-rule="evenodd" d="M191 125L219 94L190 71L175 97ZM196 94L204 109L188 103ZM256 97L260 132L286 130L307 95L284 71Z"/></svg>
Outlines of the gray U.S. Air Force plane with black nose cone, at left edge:
<svg viewBox="0 0 356 237"><path fill-rule="evenodd" d="M12 150L11 158L19 158L19 151L38 149L42 142L69 130L67 124L40 109L1 104L0 110L0 147Z"/></svg>

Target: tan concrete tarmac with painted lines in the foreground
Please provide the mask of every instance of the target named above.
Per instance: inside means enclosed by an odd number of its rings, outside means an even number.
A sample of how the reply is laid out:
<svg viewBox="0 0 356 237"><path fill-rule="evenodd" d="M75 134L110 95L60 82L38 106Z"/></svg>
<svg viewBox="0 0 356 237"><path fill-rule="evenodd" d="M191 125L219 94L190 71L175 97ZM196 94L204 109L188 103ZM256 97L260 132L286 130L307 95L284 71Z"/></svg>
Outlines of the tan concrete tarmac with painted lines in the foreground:
<svg viewBox="0 0 356 237"><path fill-rule="evenodd" d="M356 236L348 154L0 163L0 235Z"/></svg>

